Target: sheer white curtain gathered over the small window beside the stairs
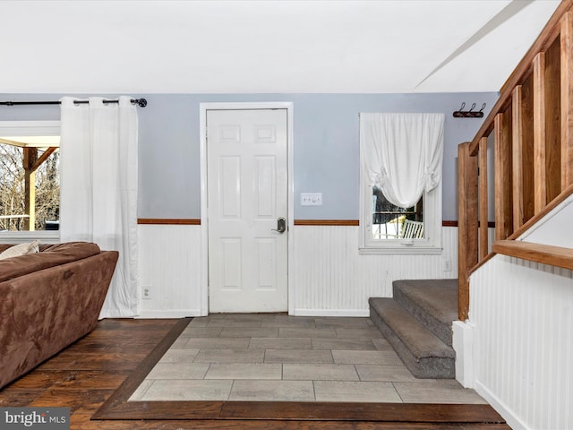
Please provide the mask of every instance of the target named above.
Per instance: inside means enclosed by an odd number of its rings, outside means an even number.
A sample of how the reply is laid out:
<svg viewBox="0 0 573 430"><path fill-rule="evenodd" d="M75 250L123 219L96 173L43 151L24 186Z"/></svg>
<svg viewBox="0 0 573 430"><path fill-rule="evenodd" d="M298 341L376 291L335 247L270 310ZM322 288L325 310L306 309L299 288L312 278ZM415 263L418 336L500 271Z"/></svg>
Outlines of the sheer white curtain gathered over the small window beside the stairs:
<svg viewBox="0 0 573 430"><path fill-rule="evenodd" d="M371 185L401 208L440 184L444 114L360 114L360 150Z"/></svg>

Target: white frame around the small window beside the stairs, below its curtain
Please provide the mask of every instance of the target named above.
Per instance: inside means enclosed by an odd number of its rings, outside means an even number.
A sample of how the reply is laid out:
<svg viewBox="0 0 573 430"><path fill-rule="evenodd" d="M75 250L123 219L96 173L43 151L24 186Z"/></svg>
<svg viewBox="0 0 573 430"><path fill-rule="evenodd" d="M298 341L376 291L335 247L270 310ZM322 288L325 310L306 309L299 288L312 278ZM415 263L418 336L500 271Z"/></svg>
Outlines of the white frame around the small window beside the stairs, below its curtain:
<svg viewBox="0 0 573 430"><path fill-rule="evenodd" d="M372 238L372 185L360 154L360 247L359 254L441 254L441 181L423 194L423 239Z"/></svg>

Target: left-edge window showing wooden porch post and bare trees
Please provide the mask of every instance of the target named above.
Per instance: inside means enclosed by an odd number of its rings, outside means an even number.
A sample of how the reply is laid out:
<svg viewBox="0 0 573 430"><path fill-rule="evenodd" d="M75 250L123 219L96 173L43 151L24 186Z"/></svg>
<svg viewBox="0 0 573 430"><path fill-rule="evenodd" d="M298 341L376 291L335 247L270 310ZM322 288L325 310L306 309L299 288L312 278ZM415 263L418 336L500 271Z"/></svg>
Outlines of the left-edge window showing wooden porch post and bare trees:
<svg viewBox="0 0 573 430"><path fill-rule="evenodd" d="M59 121L0 122L0 234L4 238L58 236L59 133Z"/></svg>

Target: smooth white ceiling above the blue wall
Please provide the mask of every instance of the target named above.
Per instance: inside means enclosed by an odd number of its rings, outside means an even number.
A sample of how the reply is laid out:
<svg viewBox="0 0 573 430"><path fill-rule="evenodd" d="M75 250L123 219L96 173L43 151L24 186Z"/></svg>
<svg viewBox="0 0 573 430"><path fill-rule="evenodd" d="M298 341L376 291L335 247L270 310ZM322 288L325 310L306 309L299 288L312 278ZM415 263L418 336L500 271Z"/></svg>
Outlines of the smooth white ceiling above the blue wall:
<svg viewBox="0 0 573 430"><path fill-rule="evenodd" d="M559 3L3 0L0 92L497 91Z"/></svg>

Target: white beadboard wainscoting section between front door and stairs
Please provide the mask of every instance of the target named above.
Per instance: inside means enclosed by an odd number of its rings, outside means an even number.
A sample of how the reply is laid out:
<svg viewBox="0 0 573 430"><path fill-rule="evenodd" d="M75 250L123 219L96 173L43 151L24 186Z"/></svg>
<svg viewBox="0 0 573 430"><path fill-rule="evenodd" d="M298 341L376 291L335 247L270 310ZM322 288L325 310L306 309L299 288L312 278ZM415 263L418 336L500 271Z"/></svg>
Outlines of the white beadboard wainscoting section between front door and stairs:
<svg viewBox="0 0 573 430"><path fill-rule="evenodd" d="M367 316L368 298L392 297L393 280L458 277L458 228L442 228L441 255L360 255L354 226L295 226L293 234L297 315Z"/></svg>

